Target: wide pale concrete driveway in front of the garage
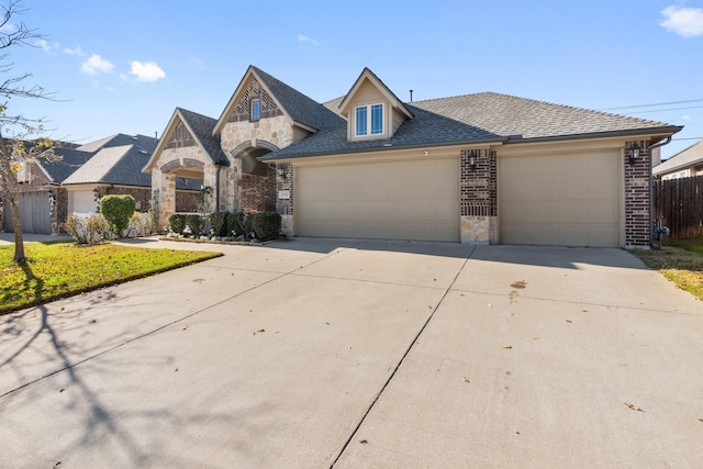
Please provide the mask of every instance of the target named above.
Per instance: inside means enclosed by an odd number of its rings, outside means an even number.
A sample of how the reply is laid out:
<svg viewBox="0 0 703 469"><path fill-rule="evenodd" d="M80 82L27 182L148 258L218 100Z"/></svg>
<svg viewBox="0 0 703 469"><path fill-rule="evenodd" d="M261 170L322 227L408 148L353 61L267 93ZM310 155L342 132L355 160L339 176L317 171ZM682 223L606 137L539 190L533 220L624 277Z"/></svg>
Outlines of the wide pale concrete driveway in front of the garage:
<svg viewBox="0 0 703 469"><path fill-rule="evenodd" d="M1 467L703 467L703 306L626 252L137 243L226 255L0 316Z"/></svg>

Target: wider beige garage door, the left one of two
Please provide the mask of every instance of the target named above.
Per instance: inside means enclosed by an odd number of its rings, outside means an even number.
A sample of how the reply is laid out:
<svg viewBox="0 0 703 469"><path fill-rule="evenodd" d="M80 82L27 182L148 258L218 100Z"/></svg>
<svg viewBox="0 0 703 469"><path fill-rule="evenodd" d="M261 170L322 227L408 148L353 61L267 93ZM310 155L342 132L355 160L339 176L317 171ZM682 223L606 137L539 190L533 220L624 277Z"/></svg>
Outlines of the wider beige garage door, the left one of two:
<svg viewBox="0 0 703 469"><path fill-rule="evenodd" d="M300 236L459 241L458 158L295 168Z"/></svg>

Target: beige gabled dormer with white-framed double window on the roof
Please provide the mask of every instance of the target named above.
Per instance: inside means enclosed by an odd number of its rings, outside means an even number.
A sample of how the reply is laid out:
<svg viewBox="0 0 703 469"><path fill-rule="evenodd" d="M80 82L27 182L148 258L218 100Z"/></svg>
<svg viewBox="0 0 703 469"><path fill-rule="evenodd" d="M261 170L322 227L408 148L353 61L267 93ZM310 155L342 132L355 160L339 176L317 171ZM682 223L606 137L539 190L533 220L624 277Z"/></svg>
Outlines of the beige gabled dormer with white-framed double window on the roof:
<svg viewBox="0 0 703 469"><path fill-rule="evenodd" d="M413 119L412 112L367 67L339 103L347 120L347 139L388 139L400 125Z"/></svg>

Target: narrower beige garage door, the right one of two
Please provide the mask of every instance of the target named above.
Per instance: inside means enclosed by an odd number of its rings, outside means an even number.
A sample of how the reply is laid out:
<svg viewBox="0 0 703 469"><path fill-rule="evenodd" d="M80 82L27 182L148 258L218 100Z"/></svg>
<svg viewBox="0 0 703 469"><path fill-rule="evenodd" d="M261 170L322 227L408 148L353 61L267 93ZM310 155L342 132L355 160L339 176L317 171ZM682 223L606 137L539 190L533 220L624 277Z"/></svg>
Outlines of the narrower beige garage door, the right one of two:
<svg viewBox="0 0 703 469"><path fill-rule="evenodd" d="M501 157L501 243L620 246L621 180L617 152Z"/></svg>

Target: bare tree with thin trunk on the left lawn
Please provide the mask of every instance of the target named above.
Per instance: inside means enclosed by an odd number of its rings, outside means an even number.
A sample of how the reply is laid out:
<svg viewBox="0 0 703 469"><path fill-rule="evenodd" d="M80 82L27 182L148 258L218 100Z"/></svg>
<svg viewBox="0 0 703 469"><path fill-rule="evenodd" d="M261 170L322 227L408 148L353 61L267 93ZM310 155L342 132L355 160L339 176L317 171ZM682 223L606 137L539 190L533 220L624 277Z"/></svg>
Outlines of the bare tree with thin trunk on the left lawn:
<svg viewBox="0 0 703 469"><path fill-rule="evenodd" d="M54 143L42 138L43 119L30 119L22 114L9 112L11 98L53 99L41 86L23 86L23 81L32 74L11 76L14 64L8 62L13 47L35 47L36 42L45 40L36 30L30 30L23 22L13 22L22 14L21 0L10 0L0 4L0 196L3 204L9 204L14 225L13 261L24 264L24 243L22 241L22 221L20 220L20 190L16 172L22 163L42 157L52 157ZM1 79L1 78L0 78Z"/></svg>

